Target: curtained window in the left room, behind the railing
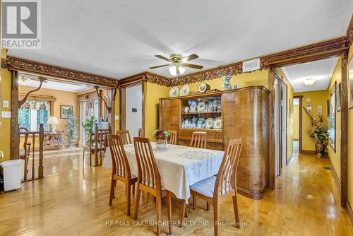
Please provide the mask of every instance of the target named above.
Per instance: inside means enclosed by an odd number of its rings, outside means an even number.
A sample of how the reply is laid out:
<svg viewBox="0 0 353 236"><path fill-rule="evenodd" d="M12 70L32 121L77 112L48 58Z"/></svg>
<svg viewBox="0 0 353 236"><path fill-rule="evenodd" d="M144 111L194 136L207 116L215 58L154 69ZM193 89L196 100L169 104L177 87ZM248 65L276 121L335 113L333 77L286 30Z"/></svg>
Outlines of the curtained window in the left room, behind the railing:
<svg viewBox="0 0 353 236"><path fill-rule="evenodd" d="M39 131L40 124L43 124L44 131L47 131L49 118L49 102L29 100L18 110L18 124L20 128L28 131Z"/></svg>

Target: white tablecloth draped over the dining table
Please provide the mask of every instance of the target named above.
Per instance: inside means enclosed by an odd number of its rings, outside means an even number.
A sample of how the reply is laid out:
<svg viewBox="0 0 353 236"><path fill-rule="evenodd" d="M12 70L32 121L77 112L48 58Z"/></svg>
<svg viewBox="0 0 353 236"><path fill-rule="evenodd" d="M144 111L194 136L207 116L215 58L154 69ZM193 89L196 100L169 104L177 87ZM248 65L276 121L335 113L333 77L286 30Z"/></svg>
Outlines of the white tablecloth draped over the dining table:
<svg viewBox="0 0 353 236"><path fill-rule="evenodd" d="M124 146L131 174L137 176L137 163L133 144ZM160 171L162 187L172 191L179 199L190 197L189 186L216 175L223 158L223 151L186 146L167 145L157 149L152 143L155 160ZM112 168L112 155L109 147L106 150L102 167Z"/></svg>

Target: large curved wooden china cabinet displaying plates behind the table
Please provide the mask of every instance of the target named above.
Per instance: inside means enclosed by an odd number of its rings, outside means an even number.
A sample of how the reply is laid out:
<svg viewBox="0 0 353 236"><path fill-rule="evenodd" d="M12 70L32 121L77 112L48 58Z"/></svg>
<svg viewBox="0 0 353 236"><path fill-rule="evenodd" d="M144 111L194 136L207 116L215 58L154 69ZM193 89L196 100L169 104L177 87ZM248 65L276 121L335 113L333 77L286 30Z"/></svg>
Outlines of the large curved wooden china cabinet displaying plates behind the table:
<svg viewBox="0 0 353 236"><path fill-rule="evenodd" d="M193 131L207 133L207 148L224 150L242 138L237 174L239 193L261 199L268 183L268 96L263 86L160 99L160 129L178 131L189 146Z"/></svg>

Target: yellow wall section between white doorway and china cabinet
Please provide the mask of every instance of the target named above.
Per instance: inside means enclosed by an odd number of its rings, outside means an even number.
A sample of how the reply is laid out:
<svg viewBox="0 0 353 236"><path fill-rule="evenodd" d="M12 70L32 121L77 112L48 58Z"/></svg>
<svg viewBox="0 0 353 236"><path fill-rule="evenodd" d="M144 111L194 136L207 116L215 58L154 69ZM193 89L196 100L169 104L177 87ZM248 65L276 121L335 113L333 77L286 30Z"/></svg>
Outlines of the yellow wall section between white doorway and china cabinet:
<svg viewBox="0 0 353 236"><path fill-rule="evenodd" d="M170 88L155 83L145 83L145 137L152 138L152 132L158 129L160 98L169 96Z"/></svg>

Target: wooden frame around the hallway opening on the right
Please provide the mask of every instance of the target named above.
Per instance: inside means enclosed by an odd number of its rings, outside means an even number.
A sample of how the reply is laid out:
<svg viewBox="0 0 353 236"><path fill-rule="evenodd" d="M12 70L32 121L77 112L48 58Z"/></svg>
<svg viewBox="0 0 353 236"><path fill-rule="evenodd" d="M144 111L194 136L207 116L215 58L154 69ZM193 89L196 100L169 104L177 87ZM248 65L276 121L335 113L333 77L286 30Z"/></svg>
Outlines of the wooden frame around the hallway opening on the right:
<svg viewBox="0 0 353 236"><path fill-rule="evenodd" d="M268 168L268 187L275 189L275 133L274 133L274 80L275 80L275 68L282 66L292 66L294 64L302 64L310 61L318 61L321 59L328 59L330 57L341 57L341 206L347 207L347 118L348 118L348 99L347 99L347 66L348 66L348 52L349 47L353 42L353 18L349 24L347 30L347 40L340 44L340 46L324 48L316 47L313 49L306 49L304 52L295 51L290 55L274 57L271 60L265 62L267 66L270 66L268 74L268 86L270 89L270 119L269 119L269 168ZM301 110L301 109L300 109Z"/></svg>

